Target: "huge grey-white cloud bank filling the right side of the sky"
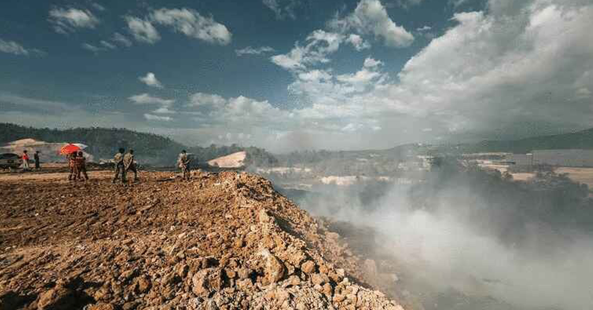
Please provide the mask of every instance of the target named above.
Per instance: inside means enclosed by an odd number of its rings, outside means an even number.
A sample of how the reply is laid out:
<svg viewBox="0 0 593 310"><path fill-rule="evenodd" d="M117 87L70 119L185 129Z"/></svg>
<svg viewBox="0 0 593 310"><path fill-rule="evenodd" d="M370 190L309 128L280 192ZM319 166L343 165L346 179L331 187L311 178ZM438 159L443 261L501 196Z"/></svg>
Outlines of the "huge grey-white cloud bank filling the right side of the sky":
<svg viewBox="0 0 593 310"><path fill-rule="evenodd" d="M319 39L326 31L309 36L304 46L297 43L272 57L294 75L291 98L305 103L287 122L298 119L320 132L380 128L368 139L375 147L390 145L384 142L393 141L388 132L400 132L398 139L410 142L457 133L503 132L515 138L534 135L533 124L590 126L593 4L517 5L492 0L486 11L455 14L457 24L409 59L397 79L381 72L382 63L371 57L352 73L314 68L331 61L345 36L333 33L342 39L331 44ZM428 127L431 132L423 131Z"/></svg>

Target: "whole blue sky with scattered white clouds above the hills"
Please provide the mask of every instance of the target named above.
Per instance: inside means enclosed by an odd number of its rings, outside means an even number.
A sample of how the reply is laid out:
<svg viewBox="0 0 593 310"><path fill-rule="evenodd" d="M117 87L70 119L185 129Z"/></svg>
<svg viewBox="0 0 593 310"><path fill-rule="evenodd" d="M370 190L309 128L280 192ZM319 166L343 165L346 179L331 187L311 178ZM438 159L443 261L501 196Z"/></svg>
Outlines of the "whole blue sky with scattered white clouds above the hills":
<svg viewBox="0 0 593 310"><path fill-rule="evenodd" d="M0 2L0 122L274 152L593 127L591 0Z"/></svg>

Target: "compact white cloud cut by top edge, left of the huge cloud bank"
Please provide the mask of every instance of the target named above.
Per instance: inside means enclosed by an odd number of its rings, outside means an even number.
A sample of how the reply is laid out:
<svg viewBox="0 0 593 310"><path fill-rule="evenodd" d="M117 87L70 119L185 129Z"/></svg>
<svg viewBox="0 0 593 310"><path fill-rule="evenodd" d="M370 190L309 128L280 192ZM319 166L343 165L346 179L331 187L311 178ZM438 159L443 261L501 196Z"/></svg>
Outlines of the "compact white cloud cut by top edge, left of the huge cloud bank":
<svg viewBox="0 0 593 310"><path fill-rule="evenodd" d="M392 47L407 47L414 41L411 33L391 20L379 0L361 0L351 14L344 18L336 16L328 25L340 33L353 30L360 34L372 34Z"/></svg>

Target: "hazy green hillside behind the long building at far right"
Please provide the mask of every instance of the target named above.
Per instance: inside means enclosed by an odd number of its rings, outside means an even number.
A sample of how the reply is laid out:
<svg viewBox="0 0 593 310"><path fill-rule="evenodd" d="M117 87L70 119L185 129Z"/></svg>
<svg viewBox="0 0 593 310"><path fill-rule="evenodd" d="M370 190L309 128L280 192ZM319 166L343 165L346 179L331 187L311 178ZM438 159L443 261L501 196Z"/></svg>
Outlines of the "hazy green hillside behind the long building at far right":
<svg viewBox="0 0 593 310"><path fill-rule="evenodd" d="M593 128L562 135L536 136L520 140L486 140L464 145L464 152L510 152L524 154L534 149L593 149Z"/></svg>

